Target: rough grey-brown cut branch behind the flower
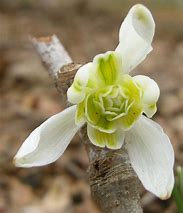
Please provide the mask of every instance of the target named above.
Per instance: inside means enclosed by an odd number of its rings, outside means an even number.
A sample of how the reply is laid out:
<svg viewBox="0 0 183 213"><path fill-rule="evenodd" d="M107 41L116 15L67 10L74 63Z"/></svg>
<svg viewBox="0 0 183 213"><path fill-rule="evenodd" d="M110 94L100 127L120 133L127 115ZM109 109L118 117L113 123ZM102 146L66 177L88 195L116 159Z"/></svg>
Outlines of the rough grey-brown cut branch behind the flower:
<svg viewBox="0 0 183 213"><path fill-rule="evenodd" d="M56 36L33 38L37 52L67 104L66 91L80 64L72 63ZM91 195L103 213L142 213L139 180L133 171L125 146L119 150L101 149L91 144L86 128L80 131L90 165Z"/></svg>

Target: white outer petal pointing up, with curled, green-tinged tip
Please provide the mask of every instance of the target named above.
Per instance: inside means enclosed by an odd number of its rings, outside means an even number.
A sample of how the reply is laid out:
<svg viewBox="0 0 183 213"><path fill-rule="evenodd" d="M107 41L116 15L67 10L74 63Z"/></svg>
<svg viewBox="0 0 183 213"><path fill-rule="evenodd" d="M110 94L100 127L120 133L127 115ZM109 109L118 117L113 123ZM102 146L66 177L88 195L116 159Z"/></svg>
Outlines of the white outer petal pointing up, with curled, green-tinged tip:
<svg viewBox="0 0 183 213"><path fill-rule="evenodd" d="M124 19L119 31L119 45L123 71L130 72L152 50L155 23L151 12L143 5L133 6Z"/></svg>

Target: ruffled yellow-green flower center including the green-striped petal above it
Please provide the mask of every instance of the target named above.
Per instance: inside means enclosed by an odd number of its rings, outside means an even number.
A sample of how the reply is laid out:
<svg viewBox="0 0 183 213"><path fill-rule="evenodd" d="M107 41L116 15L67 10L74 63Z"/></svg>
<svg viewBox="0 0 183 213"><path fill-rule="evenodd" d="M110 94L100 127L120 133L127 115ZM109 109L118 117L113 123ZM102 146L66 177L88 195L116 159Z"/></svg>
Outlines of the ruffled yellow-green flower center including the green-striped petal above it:
<svg viewBox="0 0 183 213"><path fill-rule="evenodd" d="M94 63L76 121L85 118L92 127L106 133L129 129L142 113L141 90L132 77L121 73L115 54L99 56Z"/></svg>

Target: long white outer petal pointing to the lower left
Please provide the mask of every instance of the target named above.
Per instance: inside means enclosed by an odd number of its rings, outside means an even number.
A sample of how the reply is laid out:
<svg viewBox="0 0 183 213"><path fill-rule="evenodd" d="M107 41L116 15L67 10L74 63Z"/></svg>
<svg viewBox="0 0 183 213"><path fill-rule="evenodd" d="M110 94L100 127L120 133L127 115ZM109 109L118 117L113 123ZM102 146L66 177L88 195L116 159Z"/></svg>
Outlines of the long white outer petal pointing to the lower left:
<svg viewBox="0 0 183 213"><path fill-rule="evenodd" d="M42 166L57 160L80 126L75 125L76 106L50 117L24 141L14 158L18 167Z"/></svg>

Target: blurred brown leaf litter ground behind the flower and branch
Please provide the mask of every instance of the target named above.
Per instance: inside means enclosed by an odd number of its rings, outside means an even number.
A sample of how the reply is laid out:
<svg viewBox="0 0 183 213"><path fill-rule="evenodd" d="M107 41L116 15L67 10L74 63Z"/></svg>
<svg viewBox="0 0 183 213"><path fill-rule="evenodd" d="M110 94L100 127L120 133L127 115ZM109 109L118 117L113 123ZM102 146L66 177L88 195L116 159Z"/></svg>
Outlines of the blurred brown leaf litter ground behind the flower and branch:
<svg viewBox="0 0 183 213"><path fill-rule="evenodd" d="M154 119L170 136L176 165L183 165L183 1L138 1L156 22L154 50L132 74L158 82ZM137 1L0 0L0 213L99 213L91 201L88 159L75 137L55 163L15 168L12 158L25 137L63 109L29 37L56 34L75 62L85 63L118 44L119 26ZM145 213L177 212L142 190Z"/></svg>

